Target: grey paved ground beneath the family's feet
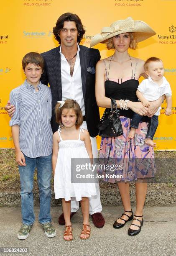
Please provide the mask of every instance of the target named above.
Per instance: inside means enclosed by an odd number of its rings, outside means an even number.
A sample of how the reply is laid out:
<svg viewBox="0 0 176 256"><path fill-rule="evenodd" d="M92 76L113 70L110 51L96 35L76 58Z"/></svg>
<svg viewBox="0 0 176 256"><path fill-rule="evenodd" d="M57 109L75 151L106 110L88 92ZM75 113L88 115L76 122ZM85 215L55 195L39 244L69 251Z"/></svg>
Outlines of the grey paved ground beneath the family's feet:
<svg viewBox="0 0 176 256"><path fill-rule="evenodd" d="M36 216L39 208L35 208ZM47 238L38 223L33 225L30 236L20 241L17 231L20 228L20 208L0 207L0 247L28 247L28 254L20 255L62 255L62 256L112 256L112 255L176 255L176 206L145 207L144 225L138 236L129 237L128 226L120 230L112 228L117 216L122 213L122 206L103 207L103 215L106 220L104 228L92 226L91 237L81 240L79 234L82 228L80 211L72 219L74 240L67 242L63 240L64 227L58 224L58 215L61 207L52 207L51 215L56 227L55 238ZM0 255L5 255L0 254ZM7 254L15 255L15 254Z"/></svg>

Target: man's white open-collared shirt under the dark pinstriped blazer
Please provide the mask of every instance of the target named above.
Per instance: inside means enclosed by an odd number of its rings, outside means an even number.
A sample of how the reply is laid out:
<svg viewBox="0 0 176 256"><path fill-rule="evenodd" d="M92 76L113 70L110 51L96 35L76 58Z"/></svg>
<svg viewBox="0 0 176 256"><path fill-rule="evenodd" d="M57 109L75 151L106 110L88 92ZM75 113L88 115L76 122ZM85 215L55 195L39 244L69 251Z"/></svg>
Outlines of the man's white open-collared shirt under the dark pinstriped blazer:
<svg viewBox="0 0 176 256"><path fill-rule="evenodd" d="M82 92L82 79L81 79L81 65L79 58L79 45L77 51L77 57L74 64L73 77L70 75L70 65L67 62L64 54L61 52L61 81L62 81L62 100L72 99L76 100L79 104L82 115L85 115L84 98Z"/></svg>

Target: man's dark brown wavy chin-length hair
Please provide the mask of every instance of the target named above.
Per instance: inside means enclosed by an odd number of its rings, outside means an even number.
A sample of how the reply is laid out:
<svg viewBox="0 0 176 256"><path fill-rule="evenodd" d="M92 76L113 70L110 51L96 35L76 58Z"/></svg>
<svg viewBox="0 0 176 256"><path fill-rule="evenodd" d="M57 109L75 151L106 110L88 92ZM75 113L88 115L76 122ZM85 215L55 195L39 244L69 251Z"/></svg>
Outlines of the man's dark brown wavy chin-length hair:
<svg viewBox="0 0 176 256"><path fill-rule="evenodd" d="M73 13L64 13L59 17L59 19L56 22L56 26L53 28L54 38L59 42L59 44L61 44L61 38L59 36L59 33L64 26L64 21L74 21L76 23L77 30L78 30L77 42L79 44L86 30L84 29L78 15Z"/></svg>

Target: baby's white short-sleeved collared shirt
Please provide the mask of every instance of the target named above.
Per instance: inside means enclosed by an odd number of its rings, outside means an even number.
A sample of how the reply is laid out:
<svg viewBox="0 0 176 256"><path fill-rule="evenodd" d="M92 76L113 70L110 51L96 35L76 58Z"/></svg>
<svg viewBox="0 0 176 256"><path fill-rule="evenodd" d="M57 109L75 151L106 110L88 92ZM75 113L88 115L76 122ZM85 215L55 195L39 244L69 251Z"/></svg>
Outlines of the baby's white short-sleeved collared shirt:
<svg viewBox="0 0 176 256"><path fill-rule="evenodd" d="M138 90L142 92L143 97L148 101L158 100L162 95L166 97L172 96L171 86L169 82L163 77L163 83L158 85L156 82L153 82L151 77L143 80L139 86ZM161 107L158 108L155 115L160 115Z"/></svg>

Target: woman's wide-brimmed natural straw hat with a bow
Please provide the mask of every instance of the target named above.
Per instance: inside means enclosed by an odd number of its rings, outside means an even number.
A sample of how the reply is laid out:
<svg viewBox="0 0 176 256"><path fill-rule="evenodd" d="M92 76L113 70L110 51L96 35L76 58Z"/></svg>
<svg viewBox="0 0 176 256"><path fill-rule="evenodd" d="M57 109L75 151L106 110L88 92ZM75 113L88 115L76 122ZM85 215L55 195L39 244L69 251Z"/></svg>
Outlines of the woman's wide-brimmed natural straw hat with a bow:
<svg viewBox="0 0 176 256"><path fill-rule="evenodd" d="M136 42L141 42L156 34L147 23L141 20L133 20L133 18L128 17L126 20L115 21L110 27L103 27L101 33L92 38L90 47L99 43L104 44L109 38L128 32L134 33Z"/></svg>

